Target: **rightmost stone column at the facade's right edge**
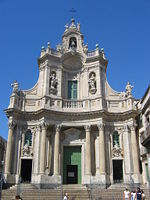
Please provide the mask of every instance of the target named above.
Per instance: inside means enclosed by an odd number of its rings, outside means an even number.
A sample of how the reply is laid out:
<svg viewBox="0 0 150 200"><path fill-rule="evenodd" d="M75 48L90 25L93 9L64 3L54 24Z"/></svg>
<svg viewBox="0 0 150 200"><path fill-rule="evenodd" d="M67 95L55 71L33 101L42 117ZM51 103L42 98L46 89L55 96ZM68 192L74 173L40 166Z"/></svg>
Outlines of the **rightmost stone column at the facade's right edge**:
<svg viewBox="0 0 150 200"><path fill-rule="evenodd" d="M139 174L139 157L137 148L137 139L134 125L131 126L131 148L132 148L132 159L133 159L133 173Z"/></svg>

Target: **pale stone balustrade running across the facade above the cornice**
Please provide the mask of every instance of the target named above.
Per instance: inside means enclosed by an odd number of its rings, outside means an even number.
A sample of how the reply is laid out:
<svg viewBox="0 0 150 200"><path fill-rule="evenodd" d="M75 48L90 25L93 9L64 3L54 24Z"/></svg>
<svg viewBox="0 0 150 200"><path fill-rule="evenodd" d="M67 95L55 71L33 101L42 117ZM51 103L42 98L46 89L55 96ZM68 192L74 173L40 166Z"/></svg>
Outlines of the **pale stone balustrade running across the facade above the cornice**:
<svg viewBox="0 0 150 200"><path fill-rule="evenodd" d="M123 104L122 104L123 103ZM25 104L25 105L24 105ZM126 101L114 101L114 100L105 100L101 97L95 99L83 99L83 100L69 100L61 98L52 98L50 96L45 96L41 99L26 99L23 102L22 109L24 111L39 110L41 108L58 110L58 111L67 111L67 112L76 112L76 111L96 111L105 109L108 112L126 112L128 110L135 110L133 102Z"/></svg>

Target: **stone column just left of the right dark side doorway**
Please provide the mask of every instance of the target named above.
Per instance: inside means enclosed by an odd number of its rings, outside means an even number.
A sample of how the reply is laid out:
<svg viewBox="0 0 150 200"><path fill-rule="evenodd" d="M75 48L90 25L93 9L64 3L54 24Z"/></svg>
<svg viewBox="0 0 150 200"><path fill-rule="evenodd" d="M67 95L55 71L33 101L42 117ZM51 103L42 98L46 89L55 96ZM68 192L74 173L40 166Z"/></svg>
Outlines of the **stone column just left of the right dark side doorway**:
<svg viewBox="0 0 150 200"><path fill-rule="evenodd" d="M106 173L106 159L105 159L105 134L104 134L104 124L98 125L99 129L99 170L100 174Z"/></svg>

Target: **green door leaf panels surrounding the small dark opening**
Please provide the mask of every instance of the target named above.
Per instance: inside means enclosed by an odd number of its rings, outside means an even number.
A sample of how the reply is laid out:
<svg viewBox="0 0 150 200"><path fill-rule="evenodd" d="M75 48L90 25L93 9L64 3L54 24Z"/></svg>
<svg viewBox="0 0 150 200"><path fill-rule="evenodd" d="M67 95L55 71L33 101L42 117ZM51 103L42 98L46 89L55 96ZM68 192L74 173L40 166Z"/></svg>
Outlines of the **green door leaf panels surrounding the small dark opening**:
<svg viewBox="0 0 150 200"><path fill-rule="evenodd" d="M77 184L81 184L81 146L64 147L63 183L67 184L67 166L77 166Z"/></svg>

